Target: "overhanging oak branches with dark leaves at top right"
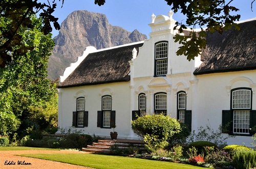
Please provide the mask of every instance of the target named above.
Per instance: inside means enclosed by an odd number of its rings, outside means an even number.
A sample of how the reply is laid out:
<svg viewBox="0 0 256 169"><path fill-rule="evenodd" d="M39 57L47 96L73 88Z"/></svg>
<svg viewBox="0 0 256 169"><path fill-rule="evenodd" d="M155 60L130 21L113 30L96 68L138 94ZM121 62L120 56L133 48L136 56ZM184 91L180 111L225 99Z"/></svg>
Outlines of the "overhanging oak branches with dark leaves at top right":
<svg viewBox="0 0 256 169"><path fill-rule="evenodd" d="M195 59L203 48L206 46L206 32L220 34L231 27L239 30L239 26L234 23L239 21L240 15L232 15L230 12L236 12L239 9L230 6L233 0L165 0L167 5L172 6L174 13L181 12L186 16L186 22L176 22L174 29L180 32L191 27L189 36L176 35L175 42L179 42L182 46L179 47L177 55L185 55L187 60ZM252 4L255 0L251 2ZM95 4L104 5L105 0L95 0ZM194 28L199 26L201 31L195 32ZM206 27L204 30L203 27Z"/></svg>

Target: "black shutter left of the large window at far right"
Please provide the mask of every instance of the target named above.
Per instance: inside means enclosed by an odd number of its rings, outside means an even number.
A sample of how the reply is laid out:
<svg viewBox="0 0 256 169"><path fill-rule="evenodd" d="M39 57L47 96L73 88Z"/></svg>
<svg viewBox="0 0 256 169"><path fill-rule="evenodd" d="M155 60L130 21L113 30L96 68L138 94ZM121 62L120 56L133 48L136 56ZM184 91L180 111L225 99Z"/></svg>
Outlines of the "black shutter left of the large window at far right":
<svg viewBox="0 0 256 169"><path fill-rule="evenodd" d="M232 133L232 116L230 110L222 110L222 133Z"/></svg>

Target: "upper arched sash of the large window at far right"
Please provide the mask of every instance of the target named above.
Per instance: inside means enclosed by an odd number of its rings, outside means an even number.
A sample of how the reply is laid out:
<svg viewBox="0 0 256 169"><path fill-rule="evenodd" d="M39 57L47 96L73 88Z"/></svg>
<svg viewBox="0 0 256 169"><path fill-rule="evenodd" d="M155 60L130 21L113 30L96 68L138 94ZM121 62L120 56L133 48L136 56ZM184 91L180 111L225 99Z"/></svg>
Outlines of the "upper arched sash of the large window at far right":
<svg viewBox="0 0 256 169"><path fill-rule="evenodd" d="M236 90L232 92L232 108L250 108L251 107L251 91Z"/></svg>

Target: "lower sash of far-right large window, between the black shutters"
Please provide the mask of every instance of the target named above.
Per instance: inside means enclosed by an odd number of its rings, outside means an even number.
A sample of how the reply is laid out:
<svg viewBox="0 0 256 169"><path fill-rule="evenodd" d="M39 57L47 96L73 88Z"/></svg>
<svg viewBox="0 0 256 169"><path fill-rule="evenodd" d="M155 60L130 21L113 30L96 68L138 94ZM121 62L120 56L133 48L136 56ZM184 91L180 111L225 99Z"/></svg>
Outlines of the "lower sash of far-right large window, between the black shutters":
<svg viewBox="0 0 256 169"><path fill-rule="evenodd" d="M234 110L233 132L249 134L250 110Z"/></svg>

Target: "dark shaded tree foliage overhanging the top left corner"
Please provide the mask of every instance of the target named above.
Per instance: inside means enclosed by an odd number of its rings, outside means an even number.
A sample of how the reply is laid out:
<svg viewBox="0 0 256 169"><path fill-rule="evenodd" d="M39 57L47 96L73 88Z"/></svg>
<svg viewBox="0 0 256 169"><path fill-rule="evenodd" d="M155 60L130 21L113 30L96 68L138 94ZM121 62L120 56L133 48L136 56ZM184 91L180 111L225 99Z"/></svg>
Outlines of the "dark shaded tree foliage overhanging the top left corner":
<svg viewBox="0 0 256 169"><path fill-rule="evenodd" d="M61 0L59 0L61 1ZM62 4L63 4L62 0ZM56 30L60 29L58 18L52 13L56 8L55 0L50 3L40 3L37 0L2 0L0 1L0 67L5 67L7 62L13 60L11 53L24 55L32 46L22 43L22 36L18 32L21 30L33 29L35 26L31 16L38 13L42 19L40 31L44 35L52 31L50 22Z"/></svg>

